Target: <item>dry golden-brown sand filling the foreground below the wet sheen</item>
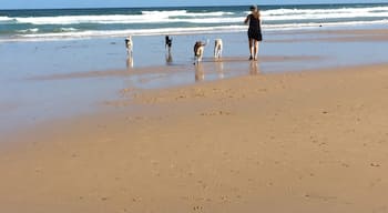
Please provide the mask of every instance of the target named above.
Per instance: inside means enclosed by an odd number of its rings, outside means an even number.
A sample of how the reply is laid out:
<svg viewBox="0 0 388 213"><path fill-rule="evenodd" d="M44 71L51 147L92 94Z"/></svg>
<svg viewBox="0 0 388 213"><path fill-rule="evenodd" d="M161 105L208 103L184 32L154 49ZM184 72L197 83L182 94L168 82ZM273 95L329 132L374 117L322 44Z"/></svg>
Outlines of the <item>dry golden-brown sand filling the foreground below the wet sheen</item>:
<svg viewBox="0 0 388 213"><path fill-rule="evenodd" d="M0 149L0 212L388 212L388 65L141 91Z"/></svg>

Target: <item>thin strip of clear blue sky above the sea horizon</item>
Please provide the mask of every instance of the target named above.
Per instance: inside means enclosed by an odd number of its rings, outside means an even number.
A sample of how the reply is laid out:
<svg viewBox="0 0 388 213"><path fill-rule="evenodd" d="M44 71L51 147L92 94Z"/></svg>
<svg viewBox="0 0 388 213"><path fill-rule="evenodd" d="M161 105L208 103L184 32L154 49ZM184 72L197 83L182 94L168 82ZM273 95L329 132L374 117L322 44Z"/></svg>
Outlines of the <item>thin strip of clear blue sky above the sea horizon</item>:
<svg viewBox="0 0 388 213"><path fill-rule="evenodd" d="M357 3L388 2L388 0L0 0L0 9L31 8L105 8L161 6L233 6L233 4L289 4L289 3Z"/></svg>

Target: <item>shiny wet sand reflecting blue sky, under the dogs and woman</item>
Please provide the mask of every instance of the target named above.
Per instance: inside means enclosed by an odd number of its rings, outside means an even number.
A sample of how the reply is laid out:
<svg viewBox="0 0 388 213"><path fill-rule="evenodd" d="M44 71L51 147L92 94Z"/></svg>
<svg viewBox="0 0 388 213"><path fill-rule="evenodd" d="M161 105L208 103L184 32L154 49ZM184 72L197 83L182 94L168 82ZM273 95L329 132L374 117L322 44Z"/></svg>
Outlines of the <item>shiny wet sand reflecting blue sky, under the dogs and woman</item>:
<svg viewBox="0 0 388 213"><path fill-rule="evenodd" d="M270 74L384 63L386 31L264 31L261 61L253 67ZM224 41L223 60L214 62L208 47L205 63L195 69L192 44L215 38ZM126 58L123 38L1 42L0 108L6 110L0 111L0 134L93 113L99 102L118 98L122 88L160 89L257 73L251 72L247 61L246 32L174 36L171 57L165 55L164 37L133 40L132 60Z"/></svg>

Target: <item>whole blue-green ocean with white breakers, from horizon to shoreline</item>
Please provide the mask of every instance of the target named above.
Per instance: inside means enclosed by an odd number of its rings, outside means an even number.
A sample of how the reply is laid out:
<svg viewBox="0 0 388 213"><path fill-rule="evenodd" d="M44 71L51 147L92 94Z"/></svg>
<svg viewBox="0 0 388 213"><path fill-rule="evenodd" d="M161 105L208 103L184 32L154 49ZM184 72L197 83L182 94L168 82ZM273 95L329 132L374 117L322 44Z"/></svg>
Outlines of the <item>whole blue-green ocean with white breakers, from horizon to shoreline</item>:
<svg viewBox="0 0 388 213"><path fill-rule="evenodd" d="M388 3L261 6L265 31L388 24ZM0 10L0 41L238 32L248 7Z"/></svg>

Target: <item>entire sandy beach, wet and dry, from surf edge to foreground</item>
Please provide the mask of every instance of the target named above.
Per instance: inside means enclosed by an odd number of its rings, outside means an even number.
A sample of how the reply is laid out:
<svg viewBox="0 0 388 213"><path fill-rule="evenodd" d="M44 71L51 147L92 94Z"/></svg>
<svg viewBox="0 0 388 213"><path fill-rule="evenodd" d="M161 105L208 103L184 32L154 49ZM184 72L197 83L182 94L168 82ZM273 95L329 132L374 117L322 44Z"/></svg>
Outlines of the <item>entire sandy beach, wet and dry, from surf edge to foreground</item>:
<svg viewBox="0 0 388 213"><path fill-rule="evenodd" d="M387 32L0 42L0 212L388 212Z"/></svg>

